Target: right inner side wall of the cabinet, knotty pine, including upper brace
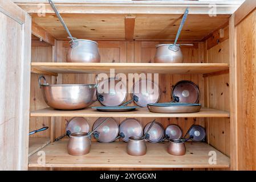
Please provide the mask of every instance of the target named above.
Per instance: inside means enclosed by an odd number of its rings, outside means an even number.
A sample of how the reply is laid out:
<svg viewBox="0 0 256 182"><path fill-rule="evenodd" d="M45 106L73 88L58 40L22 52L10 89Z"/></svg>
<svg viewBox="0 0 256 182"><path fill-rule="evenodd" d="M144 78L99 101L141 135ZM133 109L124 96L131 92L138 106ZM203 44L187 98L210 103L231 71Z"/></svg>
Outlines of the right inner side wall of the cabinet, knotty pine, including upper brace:
<svg viewBox="0 0 256 182"><path fill-rule="evenodd" d="M205 41L205 63L229 63L229 27L213 32ZM216 40L218 42L216 42ZM205 106L230 111L229 73L205 77ZM205 121L208 143L230 156L230 119L206 118ZM218 159L217 159L218 160Z"/></svg>

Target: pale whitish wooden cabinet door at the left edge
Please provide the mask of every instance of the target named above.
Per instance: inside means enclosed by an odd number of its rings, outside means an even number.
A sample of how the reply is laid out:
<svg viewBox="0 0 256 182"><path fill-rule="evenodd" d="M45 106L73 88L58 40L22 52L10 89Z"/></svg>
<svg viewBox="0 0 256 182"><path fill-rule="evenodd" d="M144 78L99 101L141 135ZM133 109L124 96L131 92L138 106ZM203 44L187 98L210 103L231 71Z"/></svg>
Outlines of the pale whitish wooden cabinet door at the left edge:
<svg viewBox="0 0 256 182"><path fill-rule="evenodd" d="M29 146L31 17L0 1L0 170L26 170Z"/></svg>

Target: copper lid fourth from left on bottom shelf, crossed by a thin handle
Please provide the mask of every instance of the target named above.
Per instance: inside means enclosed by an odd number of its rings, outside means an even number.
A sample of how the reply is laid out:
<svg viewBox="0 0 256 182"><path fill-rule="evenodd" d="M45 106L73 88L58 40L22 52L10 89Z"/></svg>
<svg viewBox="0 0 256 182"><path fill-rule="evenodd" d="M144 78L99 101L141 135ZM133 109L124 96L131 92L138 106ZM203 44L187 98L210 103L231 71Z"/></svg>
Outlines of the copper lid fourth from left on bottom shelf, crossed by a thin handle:
<svg viewBox="0 0 256 182"><path fill-rule="evenodd" d="M144 127L144 134L147 132L149 126L152 122L148 123ZM147 140L152 143L161 142L162 138L164 138L164 127L159 122L155 122L152 128L148 132L149 138Z"/></svg>

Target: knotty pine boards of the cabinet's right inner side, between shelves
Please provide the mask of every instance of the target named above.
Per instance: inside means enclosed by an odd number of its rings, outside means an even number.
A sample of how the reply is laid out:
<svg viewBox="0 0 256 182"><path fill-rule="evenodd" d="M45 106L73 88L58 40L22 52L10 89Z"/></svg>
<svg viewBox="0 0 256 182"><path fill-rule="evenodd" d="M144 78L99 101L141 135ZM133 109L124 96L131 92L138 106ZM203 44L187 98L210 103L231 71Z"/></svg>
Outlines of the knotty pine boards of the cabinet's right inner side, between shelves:
<svg viewBox="0 0 256 182"><path fill-rule="evenodd" d="M208 41L207 41L208 43ZM208 63L229 63L229 40L208 50ZM229 111L229 74L208 77L208 107ZM230 155L230 119L208 118L208 142Z"/></svg>

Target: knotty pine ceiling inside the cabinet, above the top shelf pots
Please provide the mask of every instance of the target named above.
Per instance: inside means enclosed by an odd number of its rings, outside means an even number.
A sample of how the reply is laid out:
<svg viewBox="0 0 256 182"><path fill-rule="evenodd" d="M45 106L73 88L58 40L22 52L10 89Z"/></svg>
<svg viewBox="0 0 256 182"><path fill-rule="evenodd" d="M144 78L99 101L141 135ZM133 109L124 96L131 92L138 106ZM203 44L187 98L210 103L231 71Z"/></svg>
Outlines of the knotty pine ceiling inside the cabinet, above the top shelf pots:
<svg viewBox="0 0 256 182"><path fill-rule="evenodd" d="M182 14L132 14L136 19L127 14L62 14L62 16L75 38L125 40L125 33L128 35L129 32L127 40L157 41L176 38ZM32 14L32 19L54 38L67 40L68 34L55 14L47 13L46 16L39 17L36 13ZM189 14L179 41L200 41L228 20L229 15Z"/></svg>

